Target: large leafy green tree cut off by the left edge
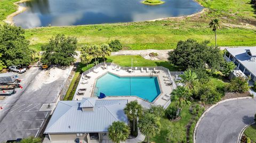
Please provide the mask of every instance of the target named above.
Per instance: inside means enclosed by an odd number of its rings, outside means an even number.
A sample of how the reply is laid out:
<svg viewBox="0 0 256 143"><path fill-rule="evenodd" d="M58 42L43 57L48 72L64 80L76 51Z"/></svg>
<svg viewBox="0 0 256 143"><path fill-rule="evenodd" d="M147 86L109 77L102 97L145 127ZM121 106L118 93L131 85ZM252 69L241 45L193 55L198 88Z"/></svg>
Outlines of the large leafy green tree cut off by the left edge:
<svg viewBox="0 0 256 143"><path fill-rule="evenodd" d="M10 24L0 25L0 53L4 65L29 65L31 63L31 49L28 47L25 30L11 26Z"/></svg>

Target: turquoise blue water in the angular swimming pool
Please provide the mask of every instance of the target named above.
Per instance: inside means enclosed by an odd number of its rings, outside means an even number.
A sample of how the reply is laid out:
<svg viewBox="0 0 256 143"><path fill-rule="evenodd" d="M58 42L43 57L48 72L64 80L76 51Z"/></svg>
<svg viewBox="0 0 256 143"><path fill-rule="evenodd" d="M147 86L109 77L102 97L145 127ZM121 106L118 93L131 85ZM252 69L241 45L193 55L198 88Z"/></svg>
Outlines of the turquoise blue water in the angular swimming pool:
<svg viewBox="0 0 256 143"><path fill-rule="evenodd" d="M98 96L138 96L153 102L161 93L157 77L118 77L107 73L96 82Z"/></svg>

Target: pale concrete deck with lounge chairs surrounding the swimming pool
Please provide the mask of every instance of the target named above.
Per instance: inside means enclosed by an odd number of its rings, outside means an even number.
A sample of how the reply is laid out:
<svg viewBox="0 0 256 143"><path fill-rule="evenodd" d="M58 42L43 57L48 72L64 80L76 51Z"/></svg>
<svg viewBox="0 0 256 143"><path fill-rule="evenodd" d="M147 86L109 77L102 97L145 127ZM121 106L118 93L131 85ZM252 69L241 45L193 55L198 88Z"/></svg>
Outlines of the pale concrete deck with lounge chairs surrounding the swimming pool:
<svg viewBox="0 0 256 143"><path fill-rule="evenodd" d="M94 69L94 71L91 71L86 74L91 77L89 79L84 79L83 74L82 74L73 100L81 100L84 97L95 97L93 92L94 92L94 87L95 87L97 79L100 78L102 75L110 72L110 73L116 74L120 77L122 77L122 76L140 76L140 77L141 76L157 76L159 86L161 88L162 93L160 95L158 95L158 97L152 103L150 103L147 100L144 100L142 98L139 98L137 96L107 96L105 99L127 99L129 102L132 100L138 100L138 103L140 103L144 107L149 107L152 104L161 105L163 107L167 107L168 105L170 105L171 99L169 99L169 100L163 99L163 97L166 97L165 94L170 95L173 90L173 86L166 85L166 83L165 83L166 81L164 81L167 79L166 76L168 76L168 73L166 71L158 70L159 73L154 73L152 70L149 70L149 72L146 72L146 68L144 68L144 70L145 70L144 72L141 72L141 70L134 70L133 72L127 72L126 70L122 70L122 69L117 71L116 69L113 69L113 68L114 68L113 65L109 65L109 66L107 66L107 69L102 69L101 67ZM172 78L174 78L174 77L172 77ZM85 82L87 82L87 83L85 83ZM173 84L175 84L175 83L173 83ZM86 88L86 91L78 91L79 89L85 89L85 88ZM77 94L78 92L84 92L84 94L78 95Z"/></svg>

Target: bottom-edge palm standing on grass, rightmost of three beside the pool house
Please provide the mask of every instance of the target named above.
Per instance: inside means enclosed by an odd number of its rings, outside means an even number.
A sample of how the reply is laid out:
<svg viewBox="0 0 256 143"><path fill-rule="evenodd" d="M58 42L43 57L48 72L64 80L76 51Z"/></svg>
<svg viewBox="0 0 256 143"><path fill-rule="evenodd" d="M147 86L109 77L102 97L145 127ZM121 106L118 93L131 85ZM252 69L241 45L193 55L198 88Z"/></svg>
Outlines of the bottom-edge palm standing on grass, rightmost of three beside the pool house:
<svg viewBox="0 0 256 143"><path fill-rule="evenodd" d="M149 137L156 136L159 133L161 128L159 120L159 117L150 113L146 113L140 118L138 127L141 133L147 137L147 142L149 142Z"/></svg>

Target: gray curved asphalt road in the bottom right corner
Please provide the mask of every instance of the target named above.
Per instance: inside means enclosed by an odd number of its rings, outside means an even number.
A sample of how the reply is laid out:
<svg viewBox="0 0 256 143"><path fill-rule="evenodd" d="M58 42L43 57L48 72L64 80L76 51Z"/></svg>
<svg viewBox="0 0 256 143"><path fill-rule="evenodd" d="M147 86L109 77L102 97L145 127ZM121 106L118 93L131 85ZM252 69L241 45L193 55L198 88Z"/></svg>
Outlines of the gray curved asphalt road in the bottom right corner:
<svg viewBox="0 0 256 143"><path fill-rule="evenodd" d="M235 99L213 107L198 124L196 143L236 143L255 113L255 99Z"/></svg>

